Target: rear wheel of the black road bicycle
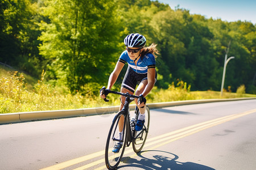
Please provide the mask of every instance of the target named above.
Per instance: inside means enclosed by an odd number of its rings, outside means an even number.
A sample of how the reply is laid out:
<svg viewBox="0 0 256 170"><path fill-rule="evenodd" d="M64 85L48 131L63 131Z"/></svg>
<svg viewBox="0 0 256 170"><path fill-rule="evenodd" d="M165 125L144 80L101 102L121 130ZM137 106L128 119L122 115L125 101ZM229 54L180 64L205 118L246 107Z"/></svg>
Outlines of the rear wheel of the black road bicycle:
<svg viewBox="0 0 256 170"><path fill-rule="evenodd" d="M134 135L135 139L133 142L134 152L138 153L142 150L142 148L146 142L146 139L147 139L149 126L150 126L150 109L147 106L146 111L145 111L144 126L141 131L135 131L135 135Z"/></svg>

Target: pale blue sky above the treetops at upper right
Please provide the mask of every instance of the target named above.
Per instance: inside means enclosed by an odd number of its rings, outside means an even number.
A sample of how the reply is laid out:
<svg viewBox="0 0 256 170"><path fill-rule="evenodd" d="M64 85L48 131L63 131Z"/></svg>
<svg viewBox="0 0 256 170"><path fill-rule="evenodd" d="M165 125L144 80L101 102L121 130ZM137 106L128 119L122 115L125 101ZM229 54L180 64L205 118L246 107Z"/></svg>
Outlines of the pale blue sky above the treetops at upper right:
<svg viewBox="0 0 256 170"><path fill-rule="evenodd" d="M221 19L227 22L237 20L256 24L256 0L158 0L168 4L173 10L189 10L190 14L200 14L205 18Z"/></svg>

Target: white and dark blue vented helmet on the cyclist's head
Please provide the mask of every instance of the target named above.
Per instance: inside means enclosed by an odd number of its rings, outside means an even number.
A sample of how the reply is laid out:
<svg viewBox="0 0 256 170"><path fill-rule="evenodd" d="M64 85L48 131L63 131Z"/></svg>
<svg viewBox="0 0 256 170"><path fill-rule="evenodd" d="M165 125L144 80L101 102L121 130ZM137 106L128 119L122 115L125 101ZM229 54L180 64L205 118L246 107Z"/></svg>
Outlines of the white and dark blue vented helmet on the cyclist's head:
<svg viewBox="0 0 256 170"><path fill-rule="evenodd" d="M125 42L125 46L130 48L142 48L146 44L146 38L139 33L131 33L130 35L127 35L125 37L125 40L123 42Z"/></svg>

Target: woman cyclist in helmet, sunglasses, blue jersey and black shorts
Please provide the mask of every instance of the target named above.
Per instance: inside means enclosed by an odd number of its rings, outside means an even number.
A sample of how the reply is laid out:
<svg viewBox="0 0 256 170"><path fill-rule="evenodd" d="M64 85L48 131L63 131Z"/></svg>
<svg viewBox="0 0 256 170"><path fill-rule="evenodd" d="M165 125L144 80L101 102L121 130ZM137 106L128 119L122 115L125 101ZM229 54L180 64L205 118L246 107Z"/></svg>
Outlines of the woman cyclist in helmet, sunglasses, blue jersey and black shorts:
<svg viewBox="0 0 256 170"><path fill-rule="evenodd" d="M144 113L146 110L146 96L154 87L154 84L157 79L157 74L155 70L155 58L158 53L158 49L156 49L156 45L152 43L150 46L145 47L146 38L139 33L131 33L127 35L124 40L126 50L122 52L121 56L118 59L117 64L113 72L109 76L108 87L107 90L110 90L114 85L115 81L118 78L123 66L125 63L128 63L127 71L125 77L123 78L121 92L129 94L135 94L142 96L142 101L138 101L135 99L135 103L139 108L139 116L137 123L135 125L135 130L140 131L144 125ZM139 83L137 90L135 88ZM135 93L134 93L135 91ZM102 91L100 91L100 96L102 99L105 99L105 95L102 95ZM123 103L125 103L125 97L121 97L121 105L119 111L123 108ZM118 126L120 131L120 138L122 137L122 128L124 117L122 118ZM122 147L122 143L119 142L117 146L114 147L113 152L119 152L119 149Z"/></svg>

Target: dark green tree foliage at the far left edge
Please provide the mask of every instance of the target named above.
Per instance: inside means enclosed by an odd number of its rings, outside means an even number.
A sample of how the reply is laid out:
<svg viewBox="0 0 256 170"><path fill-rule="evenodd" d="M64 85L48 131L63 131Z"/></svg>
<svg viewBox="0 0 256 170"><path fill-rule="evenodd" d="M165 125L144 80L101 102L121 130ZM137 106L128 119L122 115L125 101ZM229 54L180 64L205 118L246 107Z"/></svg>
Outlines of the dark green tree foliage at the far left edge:
<svg viewBox="0 0 256 170"><path fill-rule="evenodd" d="M4 0L0 3L0 61L38 76L42 58L37 48L40 35L37 2Z"/></svg>

